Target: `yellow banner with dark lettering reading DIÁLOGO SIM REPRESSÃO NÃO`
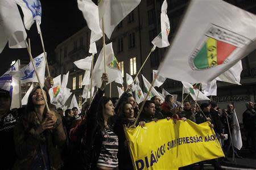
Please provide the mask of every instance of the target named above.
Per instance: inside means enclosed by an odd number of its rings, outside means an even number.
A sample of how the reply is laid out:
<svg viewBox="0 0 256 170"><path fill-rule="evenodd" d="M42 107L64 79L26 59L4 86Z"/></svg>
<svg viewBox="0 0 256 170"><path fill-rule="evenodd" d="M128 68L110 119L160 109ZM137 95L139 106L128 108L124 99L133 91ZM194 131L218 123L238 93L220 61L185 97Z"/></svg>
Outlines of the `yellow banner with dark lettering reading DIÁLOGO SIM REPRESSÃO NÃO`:
<svg viewBox="0 0 256 170"><path fill-rule="evenodd" d="M159 120L125 129L134 169L177 169L224 156L209 125Z"/></svg>

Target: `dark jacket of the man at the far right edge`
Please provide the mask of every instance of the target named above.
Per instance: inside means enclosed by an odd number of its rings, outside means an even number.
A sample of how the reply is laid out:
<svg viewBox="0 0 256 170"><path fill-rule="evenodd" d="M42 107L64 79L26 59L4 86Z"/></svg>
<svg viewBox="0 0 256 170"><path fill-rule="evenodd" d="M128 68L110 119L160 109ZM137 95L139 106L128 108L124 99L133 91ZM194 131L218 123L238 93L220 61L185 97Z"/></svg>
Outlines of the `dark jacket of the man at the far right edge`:
<svg viewBox="0 0 256 170"><path fill-rule="evenodd" d="M255 130L256 129L256 113L254 109L247 109L243 112L243 125L246 130Z"/></svg>

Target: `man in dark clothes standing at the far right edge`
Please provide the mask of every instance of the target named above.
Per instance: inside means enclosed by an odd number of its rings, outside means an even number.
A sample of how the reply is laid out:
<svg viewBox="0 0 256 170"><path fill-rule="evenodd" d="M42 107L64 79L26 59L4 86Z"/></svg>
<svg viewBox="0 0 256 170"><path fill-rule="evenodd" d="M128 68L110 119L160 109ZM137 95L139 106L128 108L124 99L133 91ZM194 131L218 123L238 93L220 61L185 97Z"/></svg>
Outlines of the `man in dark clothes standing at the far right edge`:
<svg viewBox="0 0 256 170"><path fill-rule="evenodd" d="M256 137L256 113L254 110L254 103L249 101L246 103L247 110L243 112L243 125L247 131L247 139L250 152L255 153L255 137Z"/></svg>

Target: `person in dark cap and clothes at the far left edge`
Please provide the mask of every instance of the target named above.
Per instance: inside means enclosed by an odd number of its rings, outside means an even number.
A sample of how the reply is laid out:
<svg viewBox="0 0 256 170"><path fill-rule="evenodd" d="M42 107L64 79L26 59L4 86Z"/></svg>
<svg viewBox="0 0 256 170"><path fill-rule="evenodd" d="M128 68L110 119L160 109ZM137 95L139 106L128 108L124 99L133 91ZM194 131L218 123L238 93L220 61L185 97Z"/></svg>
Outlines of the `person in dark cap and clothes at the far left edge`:
<svg viewBox="0 0 256 170"><path fill-rule="evenodd" d="M5 158L0 169L11 169L16 159L14 147L14 126L18 118L10 111L11 97L9 91L0 88L0 155Z"/></svg>

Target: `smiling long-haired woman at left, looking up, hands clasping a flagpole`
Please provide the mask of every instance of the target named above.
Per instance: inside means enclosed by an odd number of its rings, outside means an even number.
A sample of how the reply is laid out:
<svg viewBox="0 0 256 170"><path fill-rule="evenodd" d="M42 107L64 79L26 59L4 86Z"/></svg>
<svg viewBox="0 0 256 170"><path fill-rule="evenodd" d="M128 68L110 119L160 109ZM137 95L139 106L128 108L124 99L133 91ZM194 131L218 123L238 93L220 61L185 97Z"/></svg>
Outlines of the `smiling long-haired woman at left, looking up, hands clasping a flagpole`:
<svg viewBox="0 0 256 170"><path fill-rule="evenodd" d="M14 128L14 141L18 160L14 169L60 169L63 162L59 148L65 143L61 117L46 109L43 93L50 101L46 89L35 87L28 96L27 108Z"/></svg>

